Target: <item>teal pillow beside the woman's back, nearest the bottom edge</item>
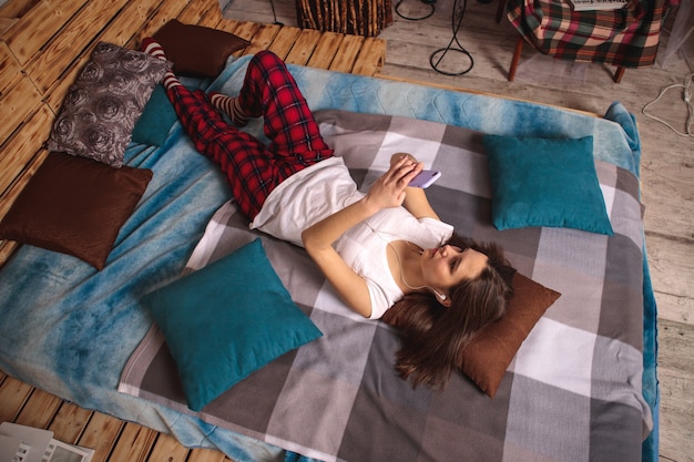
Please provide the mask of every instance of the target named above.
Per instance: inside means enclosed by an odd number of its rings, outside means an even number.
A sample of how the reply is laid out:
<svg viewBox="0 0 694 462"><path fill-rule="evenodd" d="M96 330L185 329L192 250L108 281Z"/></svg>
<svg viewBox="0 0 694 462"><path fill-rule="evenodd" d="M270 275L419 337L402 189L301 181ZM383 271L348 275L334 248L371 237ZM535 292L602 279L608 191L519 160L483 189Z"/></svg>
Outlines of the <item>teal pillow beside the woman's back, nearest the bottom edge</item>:
<svg viewBox="0 0 694 462"><path fill-rule="evenodd" d="M193 411L323 335L292 301L259 239L144 298Z"/></svg>

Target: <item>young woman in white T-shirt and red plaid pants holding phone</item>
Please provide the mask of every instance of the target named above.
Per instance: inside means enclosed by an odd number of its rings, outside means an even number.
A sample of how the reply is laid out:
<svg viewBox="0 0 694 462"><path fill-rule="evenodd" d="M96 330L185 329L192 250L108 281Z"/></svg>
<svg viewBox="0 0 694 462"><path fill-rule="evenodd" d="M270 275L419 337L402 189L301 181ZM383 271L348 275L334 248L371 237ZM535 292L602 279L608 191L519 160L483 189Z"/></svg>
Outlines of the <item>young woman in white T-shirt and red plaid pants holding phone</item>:
<svg viewBox="0 0 694 462"><path fill-rule="evenodd" d="M165 59L152 39L143 50ZM456 236L425 191L408 187L422 164L394 154L388 172L367 194L358 192L285 63L269 51L248 62L236 97L192 92L172 72L163 83L186 133L222 168L252 228L304 246L361 316L378 319L392 310L386 320L402 333L400 374L415 386L445 386L459 351L504 314L512 270L499 248ZM267 146L238 130L258 116Z"/></svg>

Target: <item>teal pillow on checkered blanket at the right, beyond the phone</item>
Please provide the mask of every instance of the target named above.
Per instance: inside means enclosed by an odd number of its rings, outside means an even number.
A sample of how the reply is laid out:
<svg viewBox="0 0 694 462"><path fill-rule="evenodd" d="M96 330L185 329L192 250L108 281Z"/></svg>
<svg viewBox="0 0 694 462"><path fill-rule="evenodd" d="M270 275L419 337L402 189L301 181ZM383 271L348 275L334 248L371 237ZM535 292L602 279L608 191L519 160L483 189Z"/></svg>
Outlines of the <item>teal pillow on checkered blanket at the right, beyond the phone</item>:
<svg viewBox="0 0 694 462"><path fill-rule="evenodd" d="M497 229L549 226L612 236L593 137L484 135Z"/></svg>

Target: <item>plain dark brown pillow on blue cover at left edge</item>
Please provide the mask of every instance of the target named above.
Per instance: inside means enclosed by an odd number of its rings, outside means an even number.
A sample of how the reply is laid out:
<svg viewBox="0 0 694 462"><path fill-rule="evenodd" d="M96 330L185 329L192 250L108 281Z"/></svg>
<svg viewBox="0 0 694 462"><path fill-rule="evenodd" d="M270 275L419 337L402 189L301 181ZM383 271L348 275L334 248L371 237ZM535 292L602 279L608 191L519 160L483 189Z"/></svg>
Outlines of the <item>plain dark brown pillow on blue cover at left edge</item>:
<svg viewBox="0 0 694 462"><path fill-rule="evenodd" d="M0 238L78 257L103 269L152 171L50 153L0 222Z"/></svg>

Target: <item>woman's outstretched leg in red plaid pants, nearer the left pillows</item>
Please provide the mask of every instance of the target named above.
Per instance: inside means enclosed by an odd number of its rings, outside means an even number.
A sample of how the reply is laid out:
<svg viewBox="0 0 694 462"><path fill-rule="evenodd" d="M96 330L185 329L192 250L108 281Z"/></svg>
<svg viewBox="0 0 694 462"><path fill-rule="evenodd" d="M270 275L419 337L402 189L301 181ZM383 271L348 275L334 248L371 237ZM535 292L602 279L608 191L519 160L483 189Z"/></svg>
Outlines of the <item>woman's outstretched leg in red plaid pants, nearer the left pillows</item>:
<svg viewBox="0 0 694 462"><path fill-rule="evenodd" d="M159 43L145 39L143 51L165 59ZM254 218L269 193L284 179L272 154L254 136L229 125L202 91L190 91L170 71L166 94L195 148L225 174L241 211Z"/></svg>

